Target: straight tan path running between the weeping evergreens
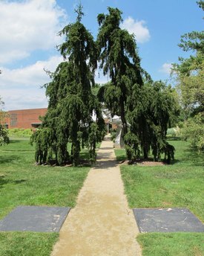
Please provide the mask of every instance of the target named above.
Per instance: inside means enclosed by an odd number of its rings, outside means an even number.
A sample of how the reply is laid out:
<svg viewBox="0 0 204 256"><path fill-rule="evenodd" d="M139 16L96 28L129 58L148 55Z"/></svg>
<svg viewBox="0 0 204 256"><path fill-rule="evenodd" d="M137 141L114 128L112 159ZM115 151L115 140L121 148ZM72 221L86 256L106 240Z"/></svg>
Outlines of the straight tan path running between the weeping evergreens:
<svg viewBox="0 0 204 256"><path fill-rule="evenodd" d="M106 136L76 207L70 210L53 256L137 256L139 233L124 195L113 143Z"/></svg>

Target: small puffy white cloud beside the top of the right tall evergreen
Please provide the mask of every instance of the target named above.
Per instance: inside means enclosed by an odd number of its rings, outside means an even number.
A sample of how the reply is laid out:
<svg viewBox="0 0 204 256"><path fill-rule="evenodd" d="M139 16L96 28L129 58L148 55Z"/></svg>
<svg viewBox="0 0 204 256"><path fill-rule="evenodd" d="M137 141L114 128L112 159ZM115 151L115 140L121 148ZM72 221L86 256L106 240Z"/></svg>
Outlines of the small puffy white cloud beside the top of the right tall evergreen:
<svg viewBox="0 0 204 256"><path fill-rule="evenodd" d="M128 17L122 23L121 28L127 29L129 33L134 33L137 42L148 42L150 33L145 23L144 20L135 21L133 18Z"/></svg>

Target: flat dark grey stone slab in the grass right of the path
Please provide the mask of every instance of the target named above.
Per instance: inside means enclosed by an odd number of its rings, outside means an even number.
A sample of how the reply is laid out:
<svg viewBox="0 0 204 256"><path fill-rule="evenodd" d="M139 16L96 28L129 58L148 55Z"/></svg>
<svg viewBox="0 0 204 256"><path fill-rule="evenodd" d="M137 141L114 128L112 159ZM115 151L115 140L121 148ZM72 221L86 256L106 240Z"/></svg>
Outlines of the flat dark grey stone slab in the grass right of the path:
<svg viewBox="0 0 204 256"><path fill-rule="evenodd" d="M134 217L143 232L204 232L204 225L186 208L135 208Z"/></svg>

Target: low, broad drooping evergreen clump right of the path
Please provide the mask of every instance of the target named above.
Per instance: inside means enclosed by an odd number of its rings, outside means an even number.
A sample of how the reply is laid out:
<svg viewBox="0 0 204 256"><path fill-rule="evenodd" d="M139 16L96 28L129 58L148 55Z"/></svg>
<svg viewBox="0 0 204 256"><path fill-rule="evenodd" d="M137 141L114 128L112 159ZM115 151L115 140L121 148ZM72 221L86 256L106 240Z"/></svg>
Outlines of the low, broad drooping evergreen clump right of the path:
<svg viewBox="0 0 204 256"><path fill-rule="evenodd" d="M128 122L131 124L125 135L128 159L135 161L140 153L148 158L150 151L154 161L161 160L162 153L168 163L174 159L174 147L165 141L165 136L171 116L178 112L171 86L165 86L161 81L145 83L141 88L134 86L128 97Z"/></svg>

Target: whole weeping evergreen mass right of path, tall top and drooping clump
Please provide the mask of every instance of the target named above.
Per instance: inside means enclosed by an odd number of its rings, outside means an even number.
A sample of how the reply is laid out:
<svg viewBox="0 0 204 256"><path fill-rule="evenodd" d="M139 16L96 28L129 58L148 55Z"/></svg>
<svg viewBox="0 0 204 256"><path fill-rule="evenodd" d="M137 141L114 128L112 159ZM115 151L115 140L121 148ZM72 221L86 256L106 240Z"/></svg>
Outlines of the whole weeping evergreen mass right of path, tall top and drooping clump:
<svg viewBox="0 0 204 256"><path fill-rule="evenodd" d="M128 159L135 161L142 153L154 160L174 158L174 147L165 141L170 119L171 97L165 95L162 83L153 83L140 66L134 35L119 28L122 12L108 7L109 13L99 14L99 60L104 74L111 82L99 89L99 99L105 102L112 115L120 115ZM144 86L144 80L149 86ZM172 109L173 110L173 109ZM127 123L130 124L128 130Z"/></svg>

